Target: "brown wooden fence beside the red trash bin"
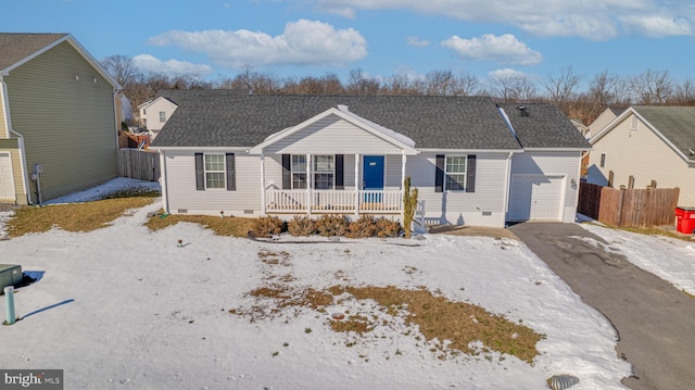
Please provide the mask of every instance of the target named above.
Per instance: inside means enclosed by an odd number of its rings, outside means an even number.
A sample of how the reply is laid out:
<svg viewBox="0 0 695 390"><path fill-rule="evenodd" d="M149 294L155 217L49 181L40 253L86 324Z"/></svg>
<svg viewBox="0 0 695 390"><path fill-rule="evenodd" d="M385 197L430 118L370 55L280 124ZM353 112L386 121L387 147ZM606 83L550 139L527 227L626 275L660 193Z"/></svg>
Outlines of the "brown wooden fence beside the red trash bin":
<svg viewBox="0 0 695 390"><path fill-rule="evenodd" d="M678 188L615 189L582 183L577 211L617 227L673 225L679 192Z"/></svg>

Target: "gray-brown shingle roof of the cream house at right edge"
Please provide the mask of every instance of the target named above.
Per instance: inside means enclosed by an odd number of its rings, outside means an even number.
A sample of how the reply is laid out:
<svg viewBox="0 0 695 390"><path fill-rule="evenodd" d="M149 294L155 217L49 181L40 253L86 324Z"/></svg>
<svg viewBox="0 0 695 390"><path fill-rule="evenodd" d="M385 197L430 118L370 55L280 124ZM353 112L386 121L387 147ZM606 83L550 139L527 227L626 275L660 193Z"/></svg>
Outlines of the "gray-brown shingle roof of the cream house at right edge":
<svg viewBox="0 0 695 390"><path fill-rule="evenodd" d="M632 109L683 154L690 155L688 148L695 150L695 106L635 105Z"/></svg>

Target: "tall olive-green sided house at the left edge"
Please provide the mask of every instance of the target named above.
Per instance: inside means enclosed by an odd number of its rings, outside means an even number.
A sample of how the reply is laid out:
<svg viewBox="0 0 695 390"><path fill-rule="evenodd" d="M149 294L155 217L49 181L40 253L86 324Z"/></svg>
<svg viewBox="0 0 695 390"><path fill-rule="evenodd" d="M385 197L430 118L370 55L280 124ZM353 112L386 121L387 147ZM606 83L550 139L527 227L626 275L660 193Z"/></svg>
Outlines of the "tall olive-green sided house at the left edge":
<svg viewBox="0 0 695 390"><path fill-rule="evenodd" d="M0 34L0 202L116 177L119 89L70 34Z"/></svg>

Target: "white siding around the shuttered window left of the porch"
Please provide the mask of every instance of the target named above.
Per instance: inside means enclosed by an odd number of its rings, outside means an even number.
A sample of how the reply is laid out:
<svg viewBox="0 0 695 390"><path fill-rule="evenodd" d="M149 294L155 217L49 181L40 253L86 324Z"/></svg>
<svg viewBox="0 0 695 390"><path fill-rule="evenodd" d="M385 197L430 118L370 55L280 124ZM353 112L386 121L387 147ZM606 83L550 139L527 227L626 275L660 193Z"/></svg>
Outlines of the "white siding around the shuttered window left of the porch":
<svg viewBox="0 0 695 390"><path fill-rule="evenodd" d="M169 212L188 214L243 216L244 212L261 213L261 163L257 155L240 150L235 153L236 190L199 191L195 189L195 159L193 152L165 152L167 201ZM224 156L224 153L223 153ZM269 159L266 159L266 162ZM281 184L281 179L280 179Z"/></svg>

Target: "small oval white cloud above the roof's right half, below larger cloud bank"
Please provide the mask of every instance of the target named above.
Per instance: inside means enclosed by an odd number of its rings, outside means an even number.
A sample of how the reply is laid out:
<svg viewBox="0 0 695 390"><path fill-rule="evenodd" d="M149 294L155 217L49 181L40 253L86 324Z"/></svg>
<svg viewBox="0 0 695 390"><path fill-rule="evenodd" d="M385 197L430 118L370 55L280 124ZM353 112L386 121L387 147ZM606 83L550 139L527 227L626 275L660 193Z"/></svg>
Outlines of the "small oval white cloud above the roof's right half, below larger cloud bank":
<svg viewBox="0 0 695 390"><path fill-rule="evenodd" d="M485 34L479 38L465 39L453 36L441 42L452 49L463 60L492 61L511 65L536 65L543 61L543 55L531 50L514 35L494 36Z"/></svg>

